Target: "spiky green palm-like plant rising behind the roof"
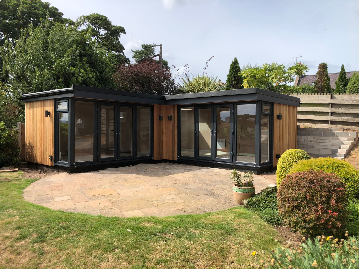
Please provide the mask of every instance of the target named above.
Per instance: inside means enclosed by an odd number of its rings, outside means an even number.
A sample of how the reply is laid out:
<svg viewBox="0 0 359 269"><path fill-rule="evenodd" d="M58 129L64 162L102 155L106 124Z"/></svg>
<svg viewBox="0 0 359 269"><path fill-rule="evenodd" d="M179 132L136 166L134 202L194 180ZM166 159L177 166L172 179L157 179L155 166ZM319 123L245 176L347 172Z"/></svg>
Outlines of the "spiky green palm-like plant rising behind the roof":
<svg viewBox="0 0 359 269"><path fill-rule="evenodd" d="M196 77L189 77L186 79L182 78L182 85L178 85L180 93L202 93L205 91L217 91L222 90L222 82L217 80L218 77L208 76L207 74Z"/></svg>

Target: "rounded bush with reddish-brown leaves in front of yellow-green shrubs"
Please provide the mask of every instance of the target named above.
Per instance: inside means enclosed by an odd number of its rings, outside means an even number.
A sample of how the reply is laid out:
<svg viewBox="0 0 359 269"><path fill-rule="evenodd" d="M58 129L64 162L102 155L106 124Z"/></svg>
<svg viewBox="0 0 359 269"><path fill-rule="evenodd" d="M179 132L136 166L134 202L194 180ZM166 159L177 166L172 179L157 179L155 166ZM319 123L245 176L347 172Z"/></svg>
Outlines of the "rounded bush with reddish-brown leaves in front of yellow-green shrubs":
<svg viewBox="0 0 359 269"><path fill-rule="evenodd" d="M294 231L317 236L345 229L345 184L334 174L313 169L289 174L277 198L279 215Z"/></svg>

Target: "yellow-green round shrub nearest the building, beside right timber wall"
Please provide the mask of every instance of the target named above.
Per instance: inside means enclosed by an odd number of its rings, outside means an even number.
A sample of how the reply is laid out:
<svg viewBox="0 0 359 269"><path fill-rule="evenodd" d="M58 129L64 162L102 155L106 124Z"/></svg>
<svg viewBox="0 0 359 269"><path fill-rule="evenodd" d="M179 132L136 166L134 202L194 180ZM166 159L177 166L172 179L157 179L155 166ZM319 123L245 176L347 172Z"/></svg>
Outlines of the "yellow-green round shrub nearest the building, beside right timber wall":
<svg viewBox="0 0 359 269"><path fill-rule="evenodd" d="M297 148L286 150L278 160L276 171L277 184L279 185L283 181L294 164L300 160L308 160L310 158L311 156L304 150L298 150Z"/></svg>

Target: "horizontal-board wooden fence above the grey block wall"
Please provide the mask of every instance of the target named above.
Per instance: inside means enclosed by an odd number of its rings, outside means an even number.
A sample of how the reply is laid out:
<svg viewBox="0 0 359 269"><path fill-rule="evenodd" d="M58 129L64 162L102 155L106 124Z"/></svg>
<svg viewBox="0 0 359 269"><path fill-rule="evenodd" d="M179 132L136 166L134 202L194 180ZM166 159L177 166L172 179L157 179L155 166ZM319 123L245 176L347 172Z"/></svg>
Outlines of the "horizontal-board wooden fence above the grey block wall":
<svg viewBox="0 0 359 269"><path fill-rule="evenodd" d="M359 130L359 94L290 94L300 98L300 127Z"/></svg>

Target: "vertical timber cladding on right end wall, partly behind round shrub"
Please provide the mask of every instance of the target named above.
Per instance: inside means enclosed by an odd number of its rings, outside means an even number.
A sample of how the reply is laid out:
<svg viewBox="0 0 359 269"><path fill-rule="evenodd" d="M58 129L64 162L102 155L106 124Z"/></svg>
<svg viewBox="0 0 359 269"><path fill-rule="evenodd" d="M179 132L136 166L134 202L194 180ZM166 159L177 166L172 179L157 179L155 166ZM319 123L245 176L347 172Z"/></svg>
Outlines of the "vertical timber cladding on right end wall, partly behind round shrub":
<svg viewBox="0 0 359 269"><path fill-rule="evenodd" d="M277 119L281 113L282 119ZM277 166L277 154L297 148L297 107L274 103L273 166Z"/></svg>

